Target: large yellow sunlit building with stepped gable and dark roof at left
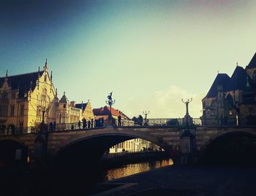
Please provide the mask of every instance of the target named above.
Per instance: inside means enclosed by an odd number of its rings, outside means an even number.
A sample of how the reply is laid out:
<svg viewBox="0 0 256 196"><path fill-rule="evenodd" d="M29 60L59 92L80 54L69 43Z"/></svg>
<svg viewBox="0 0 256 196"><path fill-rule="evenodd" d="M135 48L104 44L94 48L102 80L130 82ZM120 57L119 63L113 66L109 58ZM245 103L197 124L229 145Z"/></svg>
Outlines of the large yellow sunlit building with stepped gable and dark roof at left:
<svg viewBox="0 0 256 196"><path fill-rule="evenodd" d="M42 121L55 121L57 101L47 60L42 71L15 76L6 73L0 78L0 128L15 133Z"/></svg>

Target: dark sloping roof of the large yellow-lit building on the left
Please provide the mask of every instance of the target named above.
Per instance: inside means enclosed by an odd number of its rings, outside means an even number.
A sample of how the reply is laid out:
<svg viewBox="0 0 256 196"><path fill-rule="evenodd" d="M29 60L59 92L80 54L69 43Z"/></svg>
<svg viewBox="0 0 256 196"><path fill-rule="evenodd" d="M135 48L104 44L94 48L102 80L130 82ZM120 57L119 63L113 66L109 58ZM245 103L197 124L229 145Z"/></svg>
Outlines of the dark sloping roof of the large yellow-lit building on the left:
<svg viewBox="0 0 256 196"><path fill-rule="evenodd" d="M32 72L28 74L20 74L15 76L8 76L8 85L12 87L12 89L19 89L19 97L23 97L24 93L29 92L29 89L31 87L31 90L34 90L34 88L37 86L37 79L38 74L39 77L42 76L44 71L37 71ZM5 77L0 77L0 85L2 86L4 84Z"/></svg>

